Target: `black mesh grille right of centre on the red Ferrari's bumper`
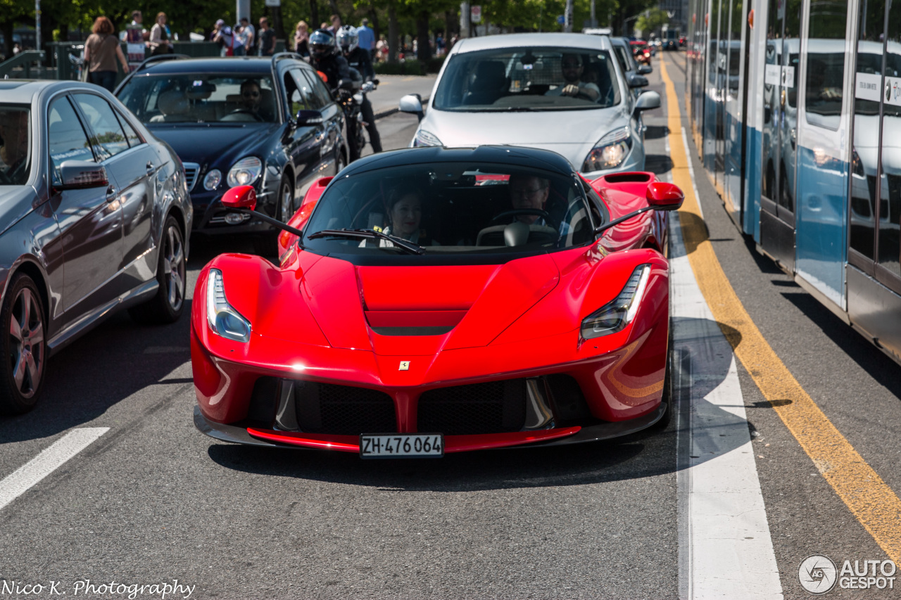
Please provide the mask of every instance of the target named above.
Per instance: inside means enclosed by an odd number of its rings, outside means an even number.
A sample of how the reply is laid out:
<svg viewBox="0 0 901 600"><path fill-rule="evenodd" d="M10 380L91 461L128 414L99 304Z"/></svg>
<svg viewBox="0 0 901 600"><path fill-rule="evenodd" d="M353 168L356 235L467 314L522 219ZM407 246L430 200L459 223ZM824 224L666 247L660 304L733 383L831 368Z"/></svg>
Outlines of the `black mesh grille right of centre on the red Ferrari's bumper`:
<svg viewBox="0 0 901 600"><path fill-rule="evenodd" d="M417 429L445 435L518 432L525 422L525 379L441 387L419 398Z"/></svg>

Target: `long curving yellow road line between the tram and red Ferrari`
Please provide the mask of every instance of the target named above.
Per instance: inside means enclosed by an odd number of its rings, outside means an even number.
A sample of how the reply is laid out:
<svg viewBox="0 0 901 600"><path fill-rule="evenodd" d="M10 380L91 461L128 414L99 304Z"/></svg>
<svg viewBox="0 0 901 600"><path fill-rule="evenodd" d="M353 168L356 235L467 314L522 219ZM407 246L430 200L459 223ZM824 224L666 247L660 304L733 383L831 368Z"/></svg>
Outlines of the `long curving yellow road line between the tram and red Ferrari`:
<svg viewBox="0 0 901 600"><path fill-rule="evenodd" d="M676 88L663 60L660 60L660 76L666 84L673 182L685 192L679 220L697 285L720 329L732 344L735 356L742 361L788 431L842 502L886 551L888 558L898 562L901 560L901 500L845 440L770 348L716 259L692 191Z"/></svg>

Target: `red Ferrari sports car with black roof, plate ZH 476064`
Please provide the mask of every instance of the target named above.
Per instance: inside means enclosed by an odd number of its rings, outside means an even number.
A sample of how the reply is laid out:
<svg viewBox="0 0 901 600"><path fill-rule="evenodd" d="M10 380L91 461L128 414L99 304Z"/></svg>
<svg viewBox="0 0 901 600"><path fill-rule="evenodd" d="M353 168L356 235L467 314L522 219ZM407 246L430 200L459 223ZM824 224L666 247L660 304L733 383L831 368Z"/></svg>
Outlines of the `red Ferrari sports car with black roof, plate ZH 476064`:
<svg viewBox="0 0 901 600"><path fill-rule="evenodd" d="M306 193L278 266L223 254L191 315L195 423L261 446L428 458L668 418L666 211L651 173L547 150L396 150Z"/></svg>

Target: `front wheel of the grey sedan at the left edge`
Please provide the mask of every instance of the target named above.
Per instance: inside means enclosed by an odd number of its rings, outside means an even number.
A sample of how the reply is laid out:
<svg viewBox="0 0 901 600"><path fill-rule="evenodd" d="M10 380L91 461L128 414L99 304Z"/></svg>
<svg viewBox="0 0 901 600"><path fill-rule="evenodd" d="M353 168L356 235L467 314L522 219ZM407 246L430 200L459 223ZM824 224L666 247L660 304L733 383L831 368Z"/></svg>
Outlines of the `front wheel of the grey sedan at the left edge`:
<svg viewBox="0 0 901 600"><path fill-rule="evenodd" d="M44 307L32 277L18 273L0 309L0 414L23 414L38 404L47 373Z"/></svg>

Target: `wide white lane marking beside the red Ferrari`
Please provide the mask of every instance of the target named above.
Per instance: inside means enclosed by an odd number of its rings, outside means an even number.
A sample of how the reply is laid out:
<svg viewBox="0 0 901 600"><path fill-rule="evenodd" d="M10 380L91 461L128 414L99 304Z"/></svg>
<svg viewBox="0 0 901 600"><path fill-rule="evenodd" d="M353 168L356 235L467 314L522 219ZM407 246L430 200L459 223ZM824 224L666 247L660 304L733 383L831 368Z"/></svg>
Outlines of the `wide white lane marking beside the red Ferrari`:
<svg viewBox="0 0 901 600"><path fill-rule="evenodd" d="M735 357L697 286L674 216L673 345L677 356L690 356L689 457L678 461L688 466L678 477L678 514L687 519L680 523L679 573L687 577L680 596L781 599Z"/></svg>

